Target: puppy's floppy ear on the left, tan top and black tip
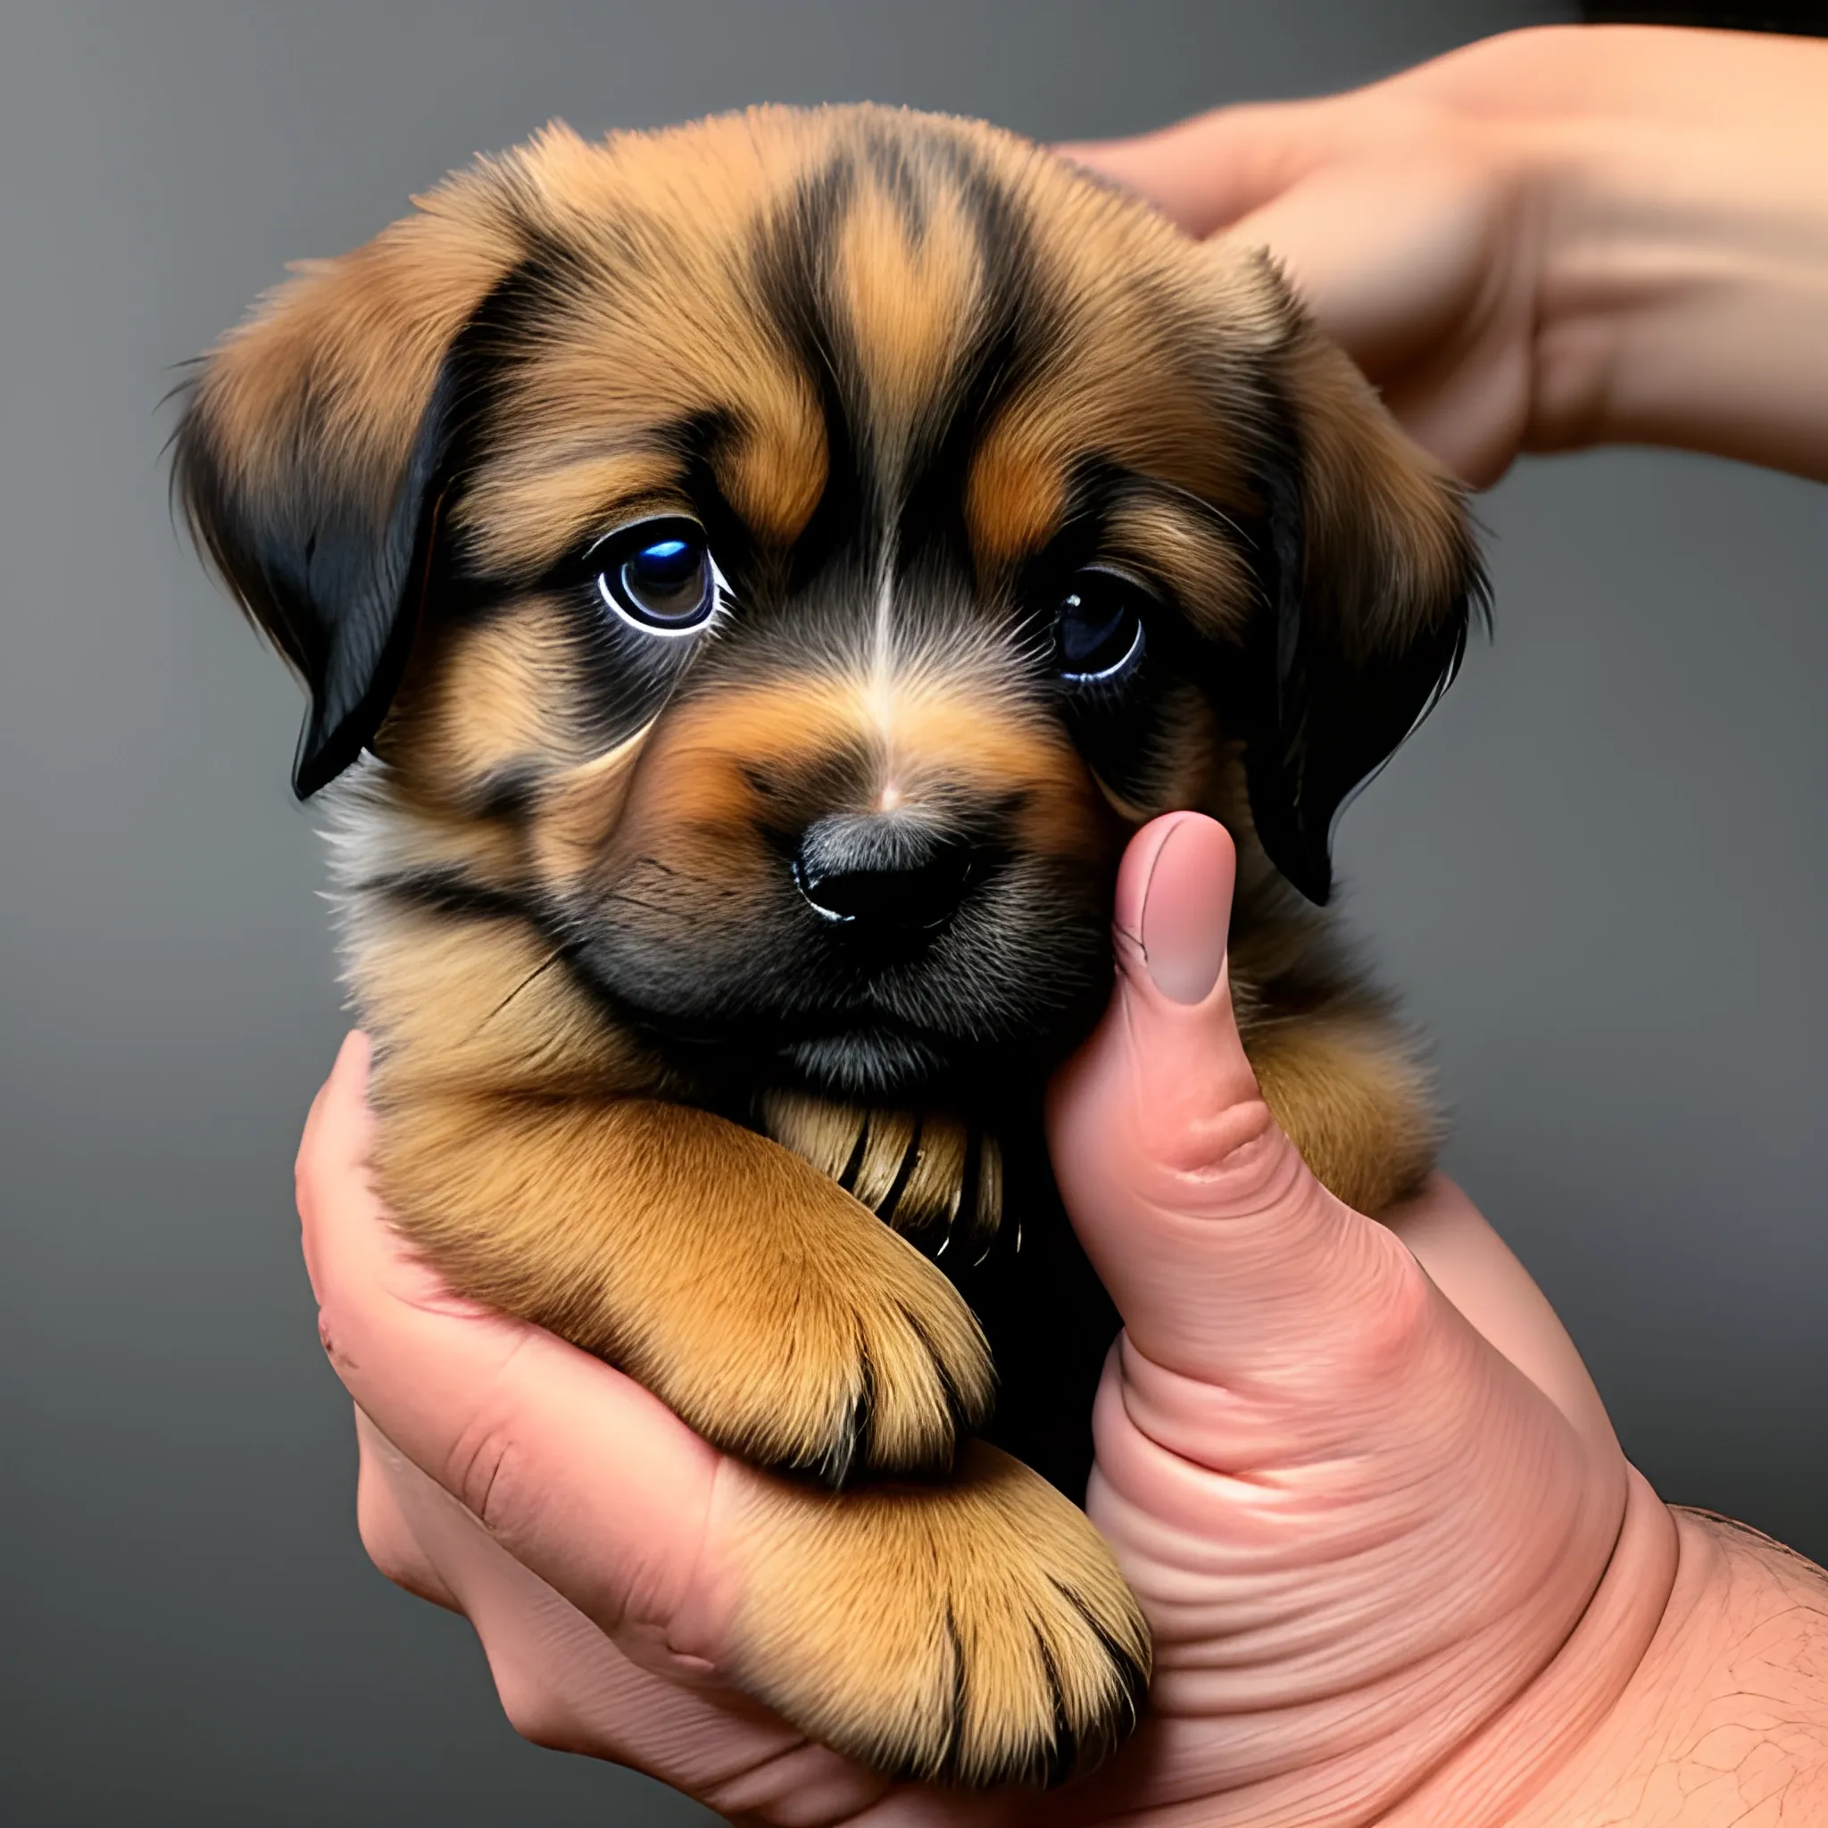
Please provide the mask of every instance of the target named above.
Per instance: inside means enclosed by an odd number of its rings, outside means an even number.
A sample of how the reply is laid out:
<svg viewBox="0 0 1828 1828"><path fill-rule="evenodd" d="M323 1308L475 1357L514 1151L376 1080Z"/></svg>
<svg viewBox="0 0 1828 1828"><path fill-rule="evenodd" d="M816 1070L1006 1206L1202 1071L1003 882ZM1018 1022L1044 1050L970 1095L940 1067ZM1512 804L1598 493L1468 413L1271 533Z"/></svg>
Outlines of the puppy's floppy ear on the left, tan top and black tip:
<svg viewBox="0 0 1828 1828"><path fill-rule="evenodd" d="M411 647L453 430L446 353L514 258L486 174L448 181L272 292L207 358L174 488L230 590L311 696L307 799L388 713Z"/></svg>

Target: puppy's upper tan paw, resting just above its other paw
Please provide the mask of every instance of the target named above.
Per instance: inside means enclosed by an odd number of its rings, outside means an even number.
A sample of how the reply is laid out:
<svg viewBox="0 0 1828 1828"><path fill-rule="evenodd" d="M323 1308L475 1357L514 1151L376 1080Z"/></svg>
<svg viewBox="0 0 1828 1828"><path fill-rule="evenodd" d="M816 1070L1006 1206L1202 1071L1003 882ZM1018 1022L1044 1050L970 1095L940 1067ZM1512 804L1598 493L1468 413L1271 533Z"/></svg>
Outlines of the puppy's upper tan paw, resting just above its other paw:
<svg viewBox="0 0 1828 1828"><path fill-rule="evenodd" d="M751 1466L843 1486L943 1473L991 1411L983 1333L958 1291L848 1194L830 1223L773 1227L696 1300L653 1313L627 1367Z"/></svg>

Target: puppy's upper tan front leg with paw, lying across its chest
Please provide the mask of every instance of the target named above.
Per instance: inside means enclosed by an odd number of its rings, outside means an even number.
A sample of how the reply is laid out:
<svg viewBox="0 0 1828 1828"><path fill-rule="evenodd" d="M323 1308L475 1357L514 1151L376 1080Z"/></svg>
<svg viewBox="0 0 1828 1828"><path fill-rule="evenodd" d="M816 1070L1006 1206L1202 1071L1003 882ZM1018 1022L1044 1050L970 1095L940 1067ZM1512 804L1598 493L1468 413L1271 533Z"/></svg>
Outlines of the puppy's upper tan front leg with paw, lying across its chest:
<svg viewBox="0 0 1828 1828"><path fill-rule="evenodd" d="M757 1466L943 1472L991 1408L969 1307L797 1155L649 1099L382 1100L380 1188L464 1294Z"/></svg>

